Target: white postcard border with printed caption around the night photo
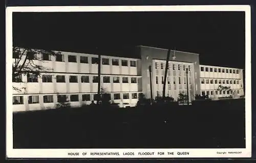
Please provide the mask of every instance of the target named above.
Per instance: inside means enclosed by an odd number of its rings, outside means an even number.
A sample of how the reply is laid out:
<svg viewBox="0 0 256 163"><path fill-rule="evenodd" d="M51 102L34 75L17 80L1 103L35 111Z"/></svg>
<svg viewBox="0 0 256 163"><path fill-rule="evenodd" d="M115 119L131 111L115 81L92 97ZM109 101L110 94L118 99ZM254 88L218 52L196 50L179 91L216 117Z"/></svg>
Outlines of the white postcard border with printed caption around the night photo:
<svg viewBox="0 0 256 163"><path fill-rule="evenodd" d="M244 149L13 149L12 130L12 13L13 12L100 12L100 11L244 11L245 12L245 117L246 148ZM9 158L191 158L251 157L251 13L249 5L209 6L56 6L7 7L6 9L6 156ZM8 93L9 92L9 93ZM119 155L91 155L94 152L118 152ZM135 155L123 155L134 152ZM139 152L154 152L139 155ZM164 152L159 155L158 152ZM173 154L168 154L168 152ZM188 152L179 155L178 152ZM225 152L225 153L223 153ZM231 153L228 153L231 152ZM70 155L79 153L79 155ZM83 153L87 153L84 154ZM181 153L180 153L181 154ZM186 155L184 155L186 154Z"/></svg>

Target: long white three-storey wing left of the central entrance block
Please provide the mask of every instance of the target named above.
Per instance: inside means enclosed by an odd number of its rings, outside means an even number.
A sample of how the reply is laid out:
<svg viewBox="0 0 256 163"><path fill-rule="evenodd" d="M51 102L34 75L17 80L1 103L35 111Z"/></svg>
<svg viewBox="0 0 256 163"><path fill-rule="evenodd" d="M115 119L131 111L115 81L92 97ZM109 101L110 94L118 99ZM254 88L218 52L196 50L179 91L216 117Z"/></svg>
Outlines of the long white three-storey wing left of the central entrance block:
<svg viewBox="0 0 256 163"><path fill-rule="evenodd" d="M63 96L73 107L96 103L98 91L98 55L60 52L43 61L33 62L49 71L20 75L13 81L13 112L55 108ZM42 57L37 54L37 58ZM15 59L13 59L15 60ZM101 92L114 103L135 106L141 93L138 59L101 56ZM14 61L15 62L15 61Z"/></svg>

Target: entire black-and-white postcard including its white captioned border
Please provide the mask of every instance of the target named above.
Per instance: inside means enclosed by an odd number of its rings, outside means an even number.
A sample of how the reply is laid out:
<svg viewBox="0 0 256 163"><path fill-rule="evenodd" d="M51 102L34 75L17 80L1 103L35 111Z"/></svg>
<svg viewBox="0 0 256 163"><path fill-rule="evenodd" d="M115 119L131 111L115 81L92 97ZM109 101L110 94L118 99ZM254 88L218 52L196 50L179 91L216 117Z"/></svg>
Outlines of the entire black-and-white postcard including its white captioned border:
<svg viewBox="0 0 256 163"><path fill-rule="evenodd" d="M74 8L7 15L10 156L251 156L249 6Z"/></svg>

